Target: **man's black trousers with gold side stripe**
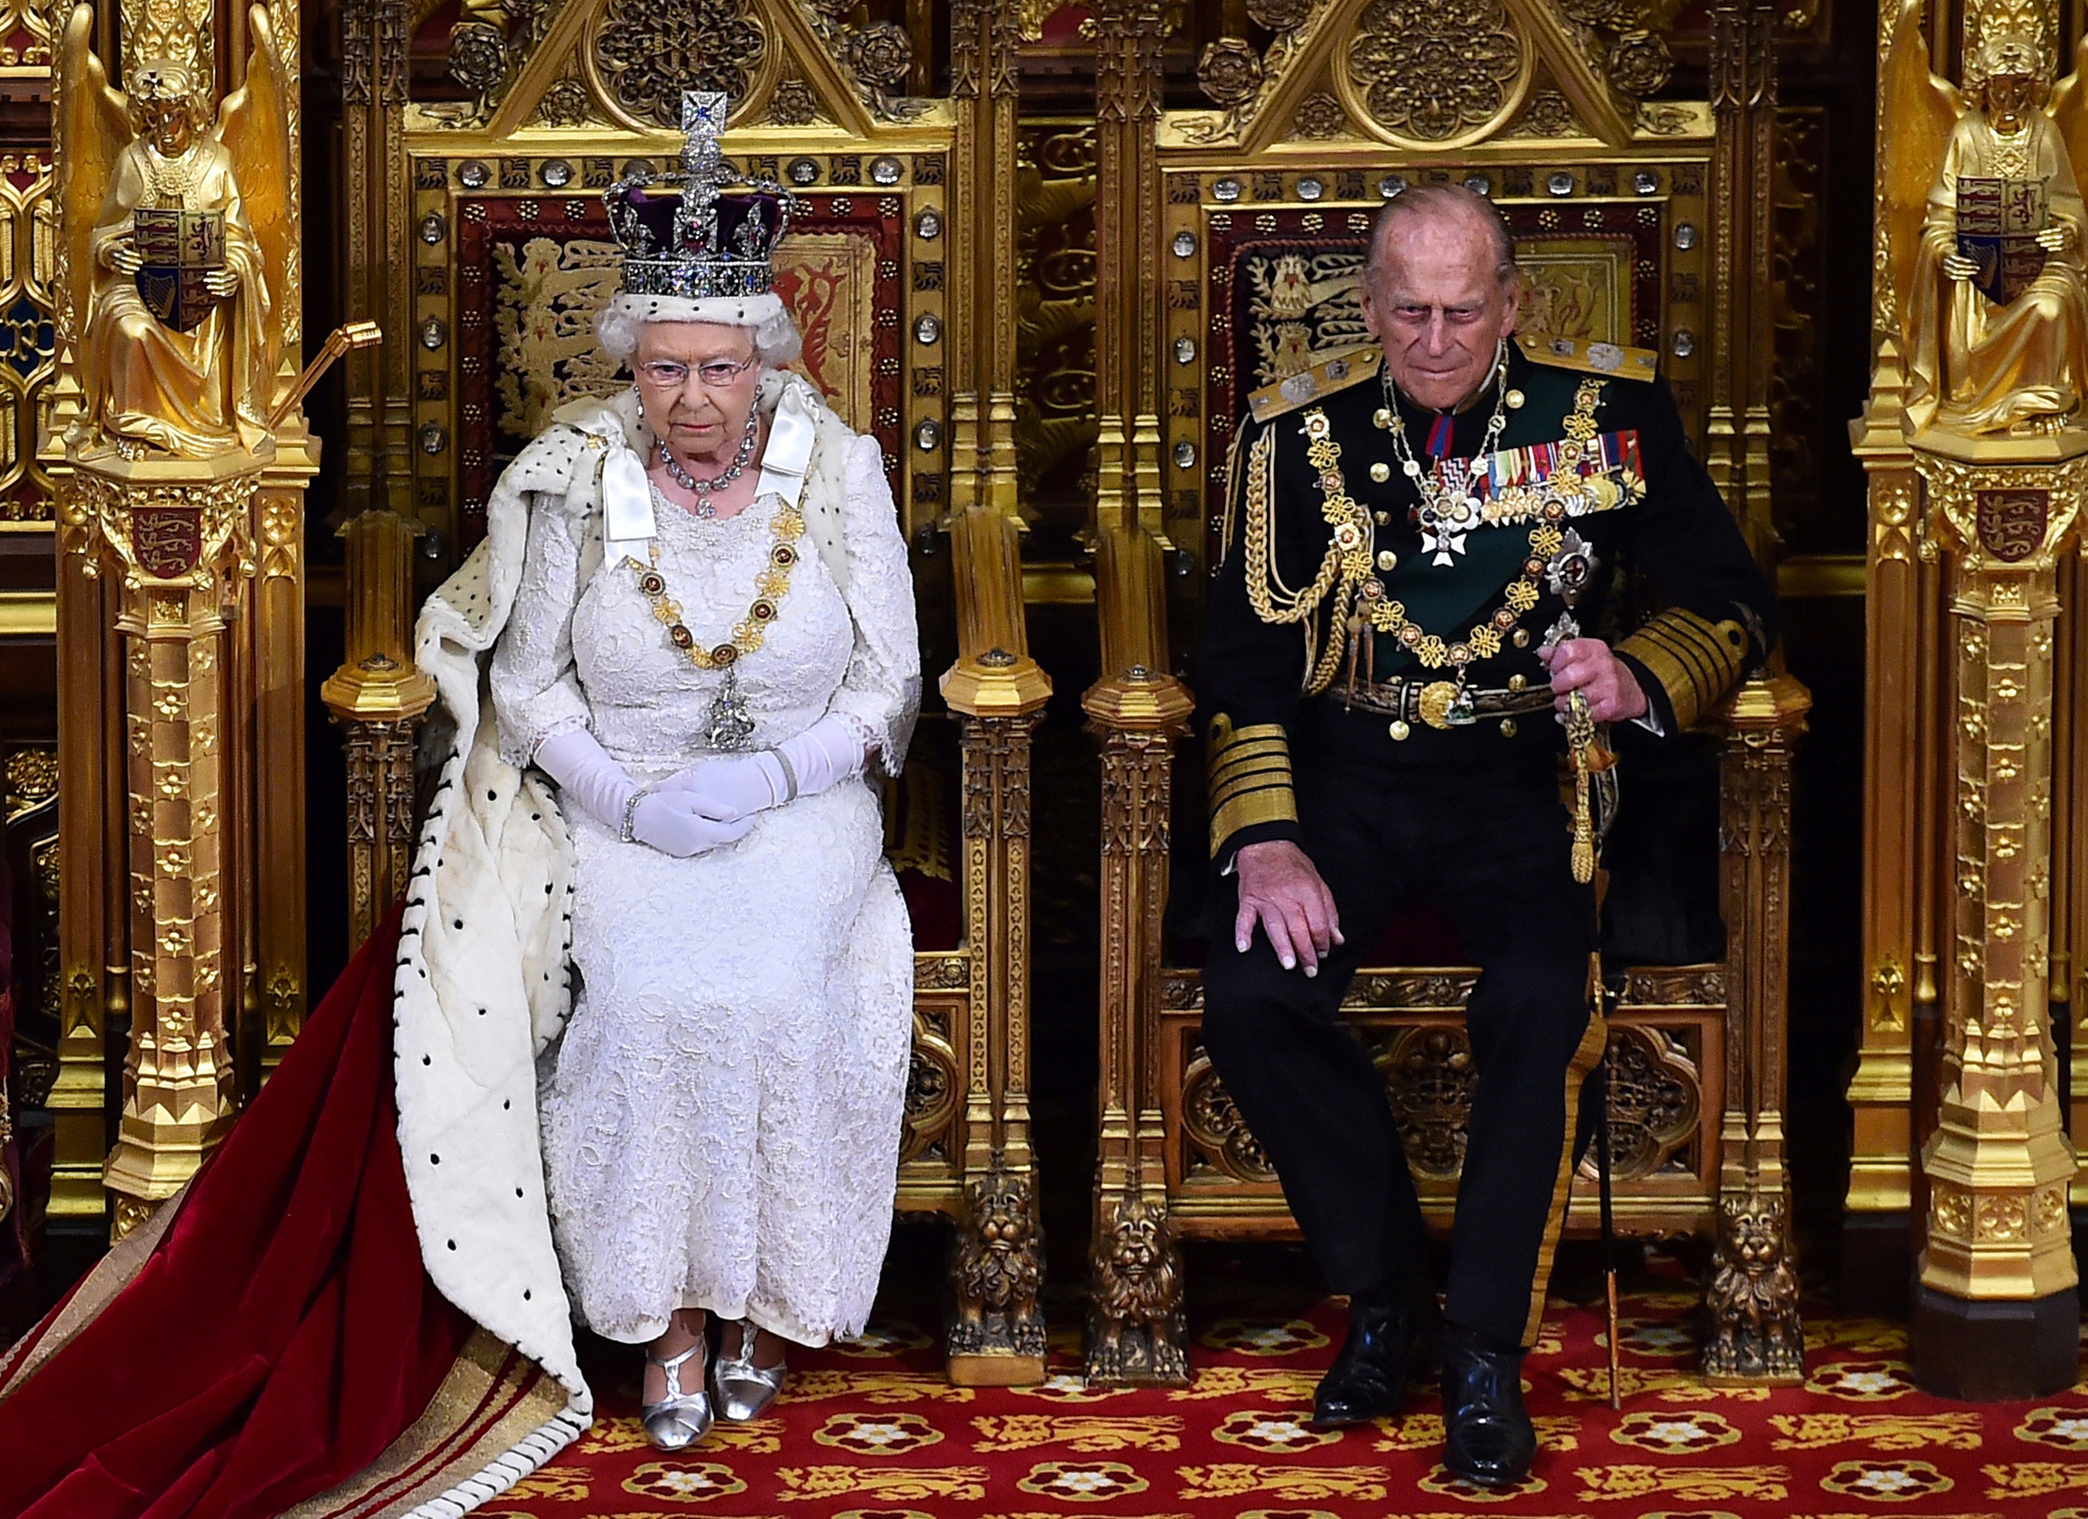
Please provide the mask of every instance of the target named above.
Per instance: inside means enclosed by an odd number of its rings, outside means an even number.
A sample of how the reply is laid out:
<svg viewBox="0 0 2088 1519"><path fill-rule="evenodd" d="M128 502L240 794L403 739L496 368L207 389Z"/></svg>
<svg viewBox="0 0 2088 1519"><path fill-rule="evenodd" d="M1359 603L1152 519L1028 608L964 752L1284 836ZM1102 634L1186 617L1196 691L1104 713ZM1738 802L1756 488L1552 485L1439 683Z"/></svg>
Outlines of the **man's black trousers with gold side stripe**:
<svg viewBox="0 0 2088 1519"><path fill-rule="evenodd" d="M1366 740L1359 719L1343 715L1343 738ZM1384 1080L1343 1024L1340 999L1407 898L1443 911L1482 969L1466 1007L1478 1084L1445 1314L1528 1346L1566 1210L1581 1086L1606 1038L1587 997L1595 907L1572 880L1570 817L1556 775L1526 761L1489 773L1395 771L1353 740L1292 754L1303 848L1334 892L1345 944L1315 978L1286 972L1259 926L1238 953L1238 882L1224 878L1209 911L1203 1043L1328 1285L1424 1285L1414 1178Z"/></svg>

